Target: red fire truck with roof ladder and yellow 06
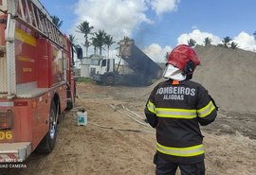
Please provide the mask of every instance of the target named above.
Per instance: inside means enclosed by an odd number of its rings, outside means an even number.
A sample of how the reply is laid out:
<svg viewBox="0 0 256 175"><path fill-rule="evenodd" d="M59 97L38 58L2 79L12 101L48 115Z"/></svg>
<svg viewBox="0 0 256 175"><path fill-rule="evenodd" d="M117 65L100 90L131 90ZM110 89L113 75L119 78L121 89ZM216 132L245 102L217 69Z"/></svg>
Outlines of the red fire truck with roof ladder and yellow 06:
<svg viewBox="0 0 256 175"><path fill-rule="evenodd" d="M0 163L54 149L74 106L72 46L39 0L0 0Z"/></svg>

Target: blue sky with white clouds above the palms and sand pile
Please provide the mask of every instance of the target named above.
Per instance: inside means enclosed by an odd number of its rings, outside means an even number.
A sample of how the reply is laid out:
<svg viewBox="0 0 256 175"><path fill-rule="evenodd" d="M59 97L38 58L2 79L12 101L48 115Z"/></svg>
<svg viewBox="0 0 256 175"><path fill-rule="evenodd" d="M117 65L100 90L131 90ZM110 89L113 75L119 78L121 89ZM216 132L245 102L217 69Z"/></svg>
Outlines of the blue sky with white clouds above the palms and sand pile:
<svg viewBox="0 0 256 175"><path fill-rule="evenodd" d="M116 42L135 39L155 61L177 44L210 37L219 44L229 36L240 48L256 51L255 0L41 0L51 15L64 21L61 30L84 41L76 26L86 20ZM115 47L115 46L113 46ZM113 51L113 55L114 51Z"/></svg>

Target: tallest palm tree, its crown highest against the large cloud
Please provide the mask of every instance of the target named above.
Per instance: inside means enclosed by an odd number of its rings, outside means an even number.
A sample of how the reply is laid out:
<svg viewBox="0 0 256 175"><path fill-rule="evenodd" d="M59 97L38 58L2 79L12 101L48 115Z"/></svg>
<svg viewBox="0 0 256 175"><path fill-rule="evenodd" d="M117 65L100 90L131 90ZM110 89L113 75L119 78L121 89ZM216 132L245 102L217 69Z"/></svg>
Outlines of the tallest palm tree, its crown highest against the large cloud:
<svg viewBox="0 0 256 175"><path fill-rule="evenodd" d="M79 26L77 26L77 28L79 29L77 32L84 34L85 42L83 45L86 48L86 57L88 57L88 48L90 46L90 43L88 41L88 35L93 34L91 32L93 29L93 26L89 26L89 23L87 21L84 21Z"/></svg>

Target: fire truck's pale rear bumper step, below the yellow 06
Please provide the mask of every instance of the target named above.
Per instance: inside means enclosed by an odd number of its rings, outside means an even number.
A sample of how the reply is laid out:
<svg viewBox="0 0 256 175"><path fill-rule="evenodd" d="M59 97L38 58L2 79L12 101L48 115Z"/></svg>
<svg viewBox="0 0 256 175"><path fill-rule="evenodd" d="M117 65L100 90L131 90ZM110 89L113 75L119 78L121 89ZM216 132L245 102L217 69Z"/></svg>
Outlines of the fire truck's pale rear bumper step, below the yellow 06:
<svg viewBox="0 0 256 175"><path fill-rule="evenodd" d="M0 144L0 163L23 162L31 151L30 142Z"/></svg>

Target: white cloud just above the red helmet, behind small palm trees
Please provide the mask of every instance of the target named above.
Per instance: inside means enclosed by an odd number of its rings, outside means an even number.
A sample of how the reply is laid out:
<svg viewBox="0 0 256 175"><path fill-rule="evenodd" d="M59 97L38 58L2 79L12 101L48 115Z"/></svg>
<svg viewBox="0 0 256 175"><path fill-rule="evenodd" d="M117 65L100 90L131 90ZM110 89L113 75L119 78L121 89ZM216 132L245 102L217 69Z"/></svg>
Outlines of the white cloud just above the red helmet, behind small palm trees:
<svg viewBox="0 0 256 175"><path fill-rule="evenodd" d="M196 44L204 44L205 38L209 37L211 44L220 44L221 39L208 32L202 32L199 29L192 30L192 33L181 34L177 39L177 44L188 44L190 39L195 40Z"/></svg>

